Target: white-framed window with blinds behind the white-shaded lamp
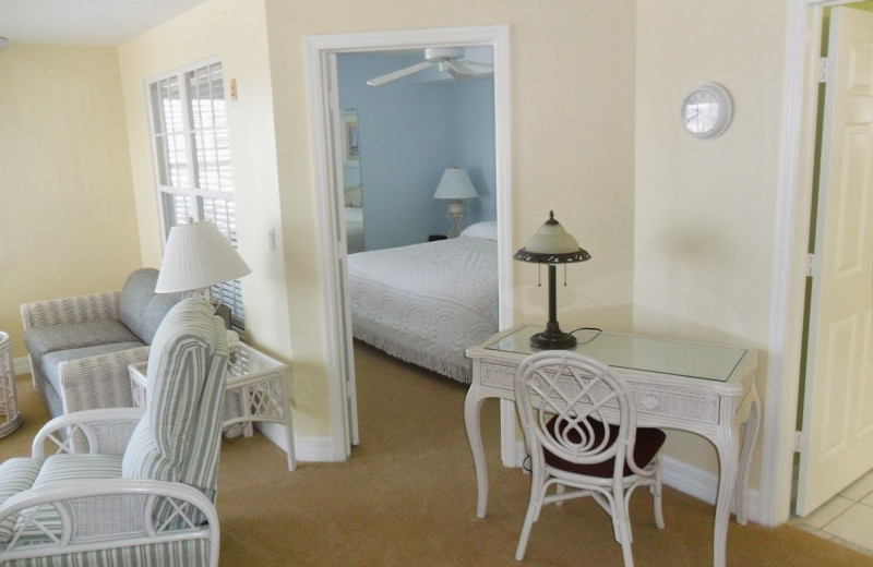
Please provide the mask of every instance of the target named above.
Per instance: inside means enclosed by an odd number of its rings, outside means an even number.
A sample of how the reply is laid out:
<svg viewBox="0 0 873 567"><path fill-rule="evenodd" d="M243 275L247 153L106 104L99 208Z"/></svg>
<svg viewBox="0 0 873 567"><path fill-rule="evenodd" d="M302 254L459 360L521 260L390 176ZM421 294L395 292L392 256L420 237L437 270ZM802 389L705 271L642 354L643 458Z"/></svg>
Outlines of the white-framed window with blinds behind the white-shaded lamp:
<svg viewBox="0 0 873 567"><path fill-rule="evenodd" d="M212 220L237 246L230 136L220 61L182 68L150 82L148 109L160 222L170 228ZM239 280L213 286L212 297L230 310L242 328Z"/></svg>

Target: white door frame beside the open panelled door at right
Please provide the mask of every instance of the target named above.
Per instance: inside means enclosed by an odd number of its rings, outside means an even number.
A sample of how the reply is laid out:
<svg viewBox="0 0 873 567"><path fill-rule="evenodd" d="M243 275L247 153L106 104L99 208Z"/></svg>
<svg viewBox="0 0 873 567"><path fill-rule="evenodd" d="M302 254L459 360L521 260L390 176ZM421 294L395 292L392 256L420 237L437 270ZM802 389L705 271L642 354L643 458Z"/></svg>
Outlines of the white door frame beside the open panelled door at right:
<svg viewBox="0 0 873 567"><path fill-rule="evenodd" d="M767 526L784 523L791 514L822 12L825 7L847 3L852 2L791 0L788 3L778 217L770 298L773 327L762 439L760 522Z"/></svg>

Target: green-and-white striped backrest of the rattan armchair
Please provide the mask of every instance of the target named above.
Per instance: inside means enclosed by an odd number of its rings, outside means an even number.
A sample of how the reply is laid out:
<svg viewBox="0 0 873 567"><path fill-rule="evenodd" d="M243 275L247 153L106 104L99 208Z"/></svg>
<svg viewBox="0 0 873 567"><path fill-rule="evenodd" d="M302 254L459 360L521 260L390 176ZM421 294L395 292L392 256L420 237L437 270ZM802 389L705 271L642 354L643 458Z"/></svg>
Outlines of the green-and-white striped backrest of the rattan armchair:
<svg viewBox="0 0 873 567"><path fill-rule="evenodd" d="M170 310L148 354L146 411L122 476L183 482L215 502L227 358L224 323L208 302Z"/></svg>

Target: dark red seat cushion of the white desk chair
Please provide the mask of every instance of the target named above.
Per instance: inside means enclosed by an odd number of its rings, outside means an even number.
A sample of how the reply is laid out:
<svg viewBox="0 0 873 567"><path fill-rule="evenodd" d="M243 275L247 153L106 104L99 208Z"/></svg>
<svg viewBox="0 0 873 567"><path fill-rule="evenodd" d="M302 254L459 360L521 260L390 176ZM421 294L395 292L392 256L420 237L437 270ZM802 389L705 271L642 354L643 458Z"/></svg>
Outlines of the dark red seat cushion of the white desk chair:
<svg viewBox="0 0 873 567"><path fill-rule="evenodd" d="M549 433L559 438L560 434L564 432L566 429L566 421L561 421L562 425L559 425L558 417L552 418L549 420L547 425ZM619 433L618 425L608 424L606 427L603 423L594 419L588 420L588 423L591 425L591 430L594 432L594 442L591 446L598 446L600 442L603 439L605 435L609 435L609 441L605 447L609 447L614 443L615 437ZM579 434L575 431L571 431L567 434L567 437L573 443L579 443L582 441ZM658 455L658 451L663 446L663 442L667 439L667 434L663 433L661 430L656 427L637 427L636 429L636 444L634 445L634 462L636 466L645 468L651 459ZM586 476L599 476L599 478L610 478L612 476L612 471L615 467L615 458L611 458L605 461L591 463L591 465L579 465L576 462L570 462L564 460L553 453L549 451L548 449L543 448L546 463L549 467L554 467L555 469L561 469L563 471L573 472L576 474L585 474ZM625 463L624 465L624 475L630 476L633 474L633 470L631 467Z"/></svg>

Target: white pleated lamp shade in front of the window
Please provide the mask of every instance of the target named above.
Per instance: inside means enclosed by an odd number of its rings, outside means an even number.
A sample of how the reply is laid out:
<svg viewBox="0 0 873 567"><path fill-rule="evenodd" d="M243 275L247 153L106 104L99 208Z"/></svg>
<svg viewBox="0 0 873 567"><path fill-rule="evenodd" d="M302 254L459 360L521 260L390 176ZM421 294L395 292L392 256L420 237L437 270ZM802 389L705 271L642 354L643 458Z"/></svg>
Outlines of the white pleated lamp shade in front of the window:
<svg viewBox="0 0 873 567"><path fill-rule="evenodd" d="M155 292L207 288L251 272L213 222L177 225L170 229L164 249Z"/></svg>

